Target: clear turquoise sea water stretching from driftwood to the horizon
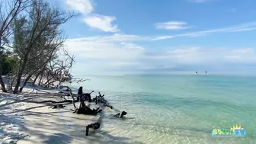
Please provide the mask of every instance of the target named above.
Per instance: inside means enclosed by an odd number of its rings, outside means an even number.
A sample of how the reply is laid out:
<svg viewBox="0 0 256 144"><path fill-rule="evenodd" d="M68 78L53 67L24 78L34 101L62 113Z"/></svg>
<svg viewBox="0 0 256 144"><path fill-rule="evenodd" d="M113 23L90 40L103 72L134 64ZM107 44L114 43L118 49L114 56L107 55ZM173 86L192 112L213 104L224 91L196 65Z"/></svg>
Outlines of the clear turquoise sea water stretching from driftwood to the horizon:
<svg viewBox="0 0 256 144"><path fill-rule="evenodd" d="M84 91L101 91L125 120L105 119L123 143L256 143L256 78L220 75L88 76ZM106 114L117 114L107 109ZM245 138L213 138L213 128L241 125ZM102 134L102 133L101 133ZM109 137L109 136L108 136ZM120 141L119 141L120 142ZM122 143L122 142L120 142Z"/></svg>

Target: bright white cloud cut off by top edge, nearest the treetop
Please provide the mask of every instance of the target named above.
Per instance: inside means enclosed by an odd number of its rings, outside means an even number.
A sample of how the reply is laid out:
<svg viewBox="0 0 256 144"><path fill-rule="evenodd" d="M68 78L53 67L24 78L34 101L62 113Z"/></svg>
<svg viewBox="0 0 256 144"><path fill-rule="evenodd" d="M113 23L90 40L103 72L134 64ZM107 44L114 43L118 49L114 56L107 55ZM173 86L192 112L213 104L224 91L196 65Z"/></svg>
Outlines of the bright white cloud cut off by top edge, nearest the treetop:
<svg viewBox="0 0 256 144"><path fill-rule="evenodd" d="M75 9L82 14L91 14L94 10L90 0L67 0L66 2L72 9Z"/></svg>

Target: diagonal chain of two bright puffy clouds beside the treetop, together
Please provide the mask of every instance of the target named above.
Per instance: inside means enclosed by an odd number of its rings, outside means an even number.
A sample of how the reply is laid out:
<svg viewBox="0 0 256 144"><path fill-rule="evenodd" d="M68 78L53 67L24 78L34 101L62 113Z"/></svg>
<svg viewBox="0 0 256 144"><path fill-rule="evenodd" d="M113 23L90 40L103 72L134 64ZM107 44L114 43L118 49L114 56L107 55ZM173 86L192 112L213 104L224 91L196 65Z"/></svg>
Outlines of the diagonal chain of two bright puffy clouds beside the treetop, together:
<svg viewBox="0 0 256 144"><path fill-rule="evenodd" d="M117 25L113 24L113 21L116 20L114 16L92 14L95 4L92 4L91 0L66 0L66 2L72 9L84 14L83 21L88 27L104 32L119 31Z"/></svg>

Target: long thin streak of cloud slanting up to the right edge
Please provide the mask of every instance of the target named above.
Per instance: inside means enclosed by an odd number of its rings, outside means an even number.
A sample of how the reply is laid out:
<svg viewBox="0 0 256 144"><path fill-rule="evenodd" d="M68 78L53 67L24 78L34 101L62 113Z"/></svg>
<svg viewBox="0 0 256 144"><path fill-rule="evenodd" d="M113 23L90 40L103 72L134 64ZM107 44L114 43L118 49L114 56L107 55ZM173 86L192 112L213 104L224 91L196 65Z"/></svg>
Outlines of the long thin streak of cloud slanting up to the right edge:
<svg viewBox="0 0 256 144"><path fill-rule="evenodd" d="M235 33L235 32L242 32L242 31L248 31L248 30L256 30L256 22L240 24L232 27L218 28L213 30L195 31L195 32L186 33L186 34L154 37L152 38L152 40L165 40L165 39L170 39L174 37L199 37L199 36L203 36L211 33Z"/></svg>

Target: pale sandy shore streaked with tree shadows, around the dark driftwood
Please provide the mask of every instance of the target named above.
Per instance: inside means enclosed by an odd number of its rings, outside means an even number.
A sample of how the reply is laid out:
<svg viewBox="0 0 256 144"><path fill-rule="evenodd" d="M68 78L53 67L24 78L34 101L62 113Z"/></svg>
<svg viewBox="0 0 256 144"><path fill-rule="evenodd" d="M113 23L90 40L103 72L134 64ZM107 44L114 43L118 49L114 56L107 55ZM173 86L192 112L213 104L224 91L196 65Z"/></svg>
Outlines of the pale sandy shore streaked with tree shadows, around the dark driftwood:
<svg viewBox="0 0 256 144"><path fill-rule="evenodd" d="M47 104L35 104L26 101L58 101L53 97L56 91L34 91L30 96L24 97L32 91L24 89L24 94L2 94L0 102L0 130L2 143L35 144L35 143L130 143L123 142L111 136L107 130L90 130L85 136L85 126L94 123L99 116L85 116L72 114L69 108L72 104L62 109L52 109ZM37 93L37 94L36 94ZM78 104L76 104L78 106ZM91 104L91 107L96 107ZM5 118L5 120L3 119Z"/></svg>

